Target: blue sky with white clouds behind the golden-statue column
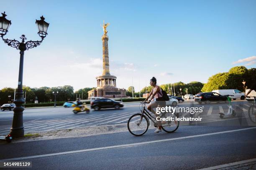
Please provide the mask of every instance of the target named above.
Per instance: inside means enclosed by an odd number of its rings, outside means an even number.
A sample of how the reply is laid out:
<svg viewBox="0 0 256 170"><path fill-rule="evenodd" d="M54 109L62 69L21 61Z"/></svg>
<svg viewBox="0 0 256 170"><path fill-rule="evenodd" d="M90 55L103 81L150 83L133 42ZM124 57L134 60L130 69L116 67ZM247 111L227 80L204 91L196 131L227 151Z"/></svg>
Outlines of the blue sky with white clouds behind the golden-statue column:
<svg viewBox="0 0 256 170"><path fill-rule="evenodd" d="M40 40L25 51L23 85L74 90L95 87L102 74L101 24L108 26L110 74L117 87L135 91L156 77L159 85L200 81L231 67L256 67L255 0L8 0L5 38ZM18 85L19 51L0 42L0 89Z"/></svg>

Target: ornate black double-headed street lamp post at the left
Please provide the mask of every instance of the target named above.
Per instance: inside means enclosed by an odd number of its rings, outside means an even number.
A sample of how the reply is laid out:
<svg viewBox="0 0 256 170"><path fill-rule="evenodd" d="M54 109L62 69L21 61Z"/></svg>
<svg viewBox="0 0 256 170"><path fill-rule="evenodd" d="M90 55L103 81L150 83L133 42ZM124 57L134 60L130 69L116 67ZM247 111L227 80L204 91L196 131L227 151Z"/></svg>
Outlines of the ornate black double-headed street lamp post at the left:
<svg viewBox="0 0 256 170"><path fill-rule="evenodd" d="M0 35L5 42L5 44L9 45L10 47L14 47L17 50L20 50L20 66L19 66L19 78L18 78L18 90L16 92L17 98L14 101L16 104L16 107L13 109L13 125L10 129L10 135L13 136L13 138L20 138L24 137L24 127L23 127L23 110L24 107L22 107L24 103L23 98L23 90L22 90L22 80L23 80L23 60L24 60L24 51L29 50L30 48L37 47L38 45L43 42L44 37L47 35L47 29L49 26L49 23L46 23L44 21L44 17L41 17L41 20L36 20L36 24L38 27L38 35L41 37L41 41L27 41L25 35L21 35L20 39L22 40L19 42L18 40L8 40L4 39L3 36L6 35L8 32L8 29L11 25L11 21L7 20L5 17L7 16L4 13L2 13L2 17L0 17Z"/></svg>

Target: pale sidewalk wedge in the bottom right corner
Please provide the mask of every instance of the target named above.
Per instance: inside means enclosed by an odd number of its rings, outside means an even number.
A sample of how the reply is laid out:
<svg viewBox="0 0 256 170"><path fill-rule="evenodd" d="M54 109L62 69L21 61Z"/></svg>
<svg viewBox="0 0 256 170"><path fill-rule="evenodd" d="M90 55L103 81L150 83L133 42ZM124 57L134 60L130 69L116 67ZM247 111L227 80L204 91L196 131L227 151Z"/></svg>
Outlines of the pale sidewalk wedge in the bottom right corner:
<svg viewBox="0 0 256 170"><path fill-rule="evenodd" d="M256 158L209 168L203 168L200 170L256 170Z"/></svg>

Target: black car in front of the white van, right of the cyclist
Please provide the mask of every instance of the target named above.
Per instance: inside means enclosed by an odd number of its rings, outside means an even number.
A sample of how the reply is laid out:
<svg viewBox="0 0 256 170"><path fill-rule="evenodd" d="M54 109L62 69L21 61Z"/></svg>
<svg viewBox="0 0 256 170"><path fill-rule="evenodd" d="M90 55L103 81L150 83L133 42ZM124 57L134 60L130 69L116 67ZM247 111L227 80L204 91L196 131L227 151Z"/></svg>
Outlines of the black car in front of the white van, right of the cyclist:
<svg viewBox="0 0 256 170"><path fill-rule="evenodd" d="M200 92L195 97L195 102L205 102L209 104L211 101L227 101L227 96L220 95L217 92Z"/></svg>

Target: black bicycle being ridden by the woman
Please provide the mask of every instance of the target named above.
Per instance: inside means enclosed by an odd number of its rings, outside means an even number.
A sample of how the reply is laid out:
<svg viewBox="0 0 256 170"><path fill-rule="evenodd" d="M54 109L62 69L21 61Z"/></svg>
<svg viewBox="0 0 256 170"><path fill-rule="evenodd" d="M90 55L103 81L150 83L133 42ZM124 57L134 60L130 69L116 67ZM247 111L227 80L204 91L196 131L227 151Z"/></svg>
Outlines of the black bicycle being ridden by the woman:
<svg viewBox="0 0 256 170"><path fill-rule="evenodd" d="M129 132L135 136L141 136L148 130L149 126L149 119L154 123L154 126L157 127L156 118L153 117L147 110L146 110L146 103L141 102L140 110L141 113L137 113L132 115L128 122L127 127ZM167 132L172 133L179 128L179 121L176 120L176 117L179 117L176 113L172 114L170 112L164 112L160 115L160 118L168 118L173 117L173 120L168 121L161 121L161 128Z"/></svg>

